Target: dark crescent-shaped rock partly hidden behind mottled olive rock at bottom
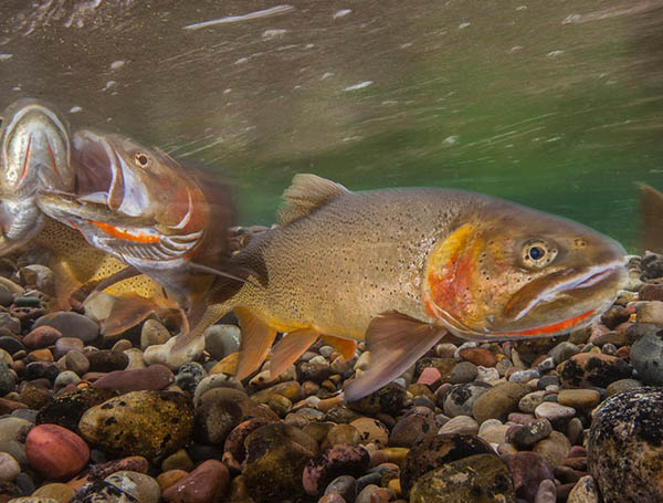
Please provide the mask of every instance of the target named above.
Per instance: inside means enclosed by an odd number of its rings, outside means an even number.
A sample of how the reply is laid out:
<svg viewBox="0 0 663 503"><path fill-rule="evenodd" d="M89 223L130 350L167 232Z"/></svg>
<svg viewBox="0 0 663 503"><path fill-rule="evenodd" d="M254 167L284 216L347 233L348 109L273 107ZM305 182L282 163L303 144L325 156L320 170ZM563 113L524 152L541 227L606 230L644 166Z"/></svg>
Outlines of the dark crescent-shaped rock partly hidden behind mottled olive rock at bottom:
<svg viewBox="0 0 663 503"><path fill-rule="evenodd" d="M400 472L400 484L403 495L424 473L474 454L496 455L493 448L484 440L472 434L438 434L425 438L407 453Z"/></svg>

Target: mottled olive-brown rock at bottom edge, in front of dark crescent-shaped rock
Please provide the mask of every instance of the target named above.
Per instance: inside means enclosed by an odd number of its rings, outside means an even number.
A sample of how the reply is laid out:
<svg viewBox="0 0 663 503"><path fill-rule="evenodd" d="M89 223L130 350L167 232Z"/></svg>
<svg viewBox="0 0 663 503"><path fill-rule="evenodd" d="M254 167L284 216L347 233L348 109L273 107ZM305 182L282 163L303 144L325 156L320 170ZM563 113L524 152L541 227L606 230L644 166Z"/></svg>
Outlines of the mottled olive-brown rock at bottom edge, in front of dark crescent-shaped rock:
<svg viewBox="0 0 663 503"><path fill-rule="evenodd" d="M410 491L410 503L515 503L516 495L504 461L477 454L451 461L421 476Z"/></svg>

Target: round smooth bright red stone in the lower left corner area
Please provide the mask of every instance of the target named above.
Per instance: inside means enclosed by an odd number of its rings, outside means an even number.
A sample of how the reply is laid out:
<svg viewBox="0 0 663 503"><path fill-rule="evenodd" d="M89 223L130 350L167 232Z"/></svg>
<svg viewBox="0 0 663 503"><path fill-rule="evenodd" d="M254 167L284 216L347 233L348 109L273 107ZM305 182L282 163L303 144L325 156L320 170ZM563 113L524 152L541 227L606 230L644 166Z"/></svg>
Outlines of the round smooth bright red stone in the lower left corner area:
<svg viewBox="0 0 663 503"><path fill-rule="evenodd" d="M30 465L46 480L64 480L87 464L90 448L73 431L57 425L40 425L28 433L25 454Z"/></svg>

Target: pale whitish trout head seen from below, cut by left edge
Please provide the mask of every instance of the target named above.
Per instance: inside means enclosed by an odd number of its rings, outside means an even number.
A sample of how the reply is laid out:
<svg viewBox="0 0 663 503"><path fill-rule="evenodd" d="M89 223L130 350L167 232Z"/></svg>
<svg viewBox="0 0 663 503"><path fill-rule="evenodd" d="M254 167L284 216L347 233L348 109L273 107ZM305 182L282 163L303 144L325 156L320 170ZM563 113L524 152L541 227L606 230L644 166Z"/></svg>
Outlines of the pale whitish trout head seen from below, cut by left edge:
<svg viewBox="0 0 663 503"><path fill-rule="evenodd" d="M0 254L25 244L43 227L38 190L71 190L66 123L46 104L11 104L0 127Z"/></svg>

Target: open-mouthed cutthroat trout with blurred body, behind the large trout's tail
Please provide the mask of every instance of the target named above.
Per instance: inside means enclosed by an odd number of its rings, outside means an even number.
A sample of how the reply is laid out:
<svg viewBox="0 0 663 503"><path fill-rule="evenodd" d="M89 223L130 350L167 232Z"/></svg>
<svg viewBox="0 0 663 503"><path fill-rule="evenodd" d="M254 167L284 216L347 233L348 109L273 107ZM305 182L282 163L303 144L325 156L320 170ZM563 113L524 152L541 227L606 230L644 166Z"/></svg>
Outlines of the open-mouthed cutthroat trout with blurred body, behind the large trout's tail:
<svg viewBox="0 0 663 503"><path fill-rule="evenodd" d="M72 139L76 188L41 191L39 207L93 247L162 285L187 307L224 269L229 192L167 154L116 134L82 129ZM124 276L119 275L119 279Z"/></svg>

